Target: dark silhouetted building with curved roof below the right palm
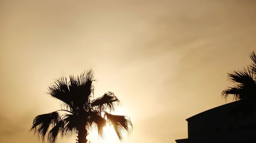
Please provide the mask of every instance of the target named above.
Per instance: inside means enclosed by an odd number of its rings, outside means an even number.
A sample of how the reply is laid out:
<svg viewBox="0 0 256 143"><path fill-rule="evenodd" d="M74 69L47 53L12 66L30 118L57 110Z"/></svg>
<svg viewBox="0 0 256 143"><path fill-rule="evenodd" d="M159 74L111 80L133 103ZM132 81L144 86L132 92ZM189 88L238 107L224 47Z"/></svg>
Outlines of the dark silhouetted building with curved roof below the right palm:
<svg viewBox="0 0 256 143"><path fill-rule="evenodd" d="M186 119L188 138L177 143L255 143L256 108L236 101Z"/></svg>

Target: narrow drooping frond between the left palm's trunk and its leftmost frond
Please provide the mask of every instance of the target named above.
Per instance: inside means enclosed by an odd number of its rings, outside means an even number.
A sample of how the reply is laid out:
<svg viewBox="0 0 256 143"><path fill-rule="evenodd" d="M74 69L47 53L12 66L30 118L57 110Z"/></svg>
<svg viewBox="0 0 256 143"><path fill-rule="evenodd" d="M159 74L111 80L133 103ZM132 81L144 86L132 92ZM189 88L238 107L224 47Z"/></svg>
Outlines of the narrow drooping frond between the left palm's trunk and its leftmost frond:
<svg viewBox="0 0 256 143"><path fill-rule="evenodd" d="M64 122L60 120L48 133L48 141L54 143L56 141L57 135L62 131L64 127Z"/></svg>

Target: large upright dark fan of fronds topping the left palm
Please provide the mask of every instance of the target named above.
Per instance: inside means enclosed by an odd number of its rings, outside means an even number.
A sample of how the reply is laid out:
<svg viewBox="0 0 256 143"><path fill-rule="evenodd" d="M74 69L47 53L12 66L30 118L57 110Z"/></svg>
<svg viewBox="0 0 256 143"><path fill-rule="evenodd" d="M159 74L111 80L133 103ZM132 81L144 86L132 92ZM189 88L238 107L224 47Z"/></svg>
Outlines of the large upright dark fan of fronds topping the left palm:
<svg viewBox="0 0 256 143"><path fill-rule="evenodd" d="M48 87L48 94L57 98L67 107L83 106L89 101L93 94L94 87L92 82L95 81L93 71L83 72L80 76L61 77Z"/></svg>

